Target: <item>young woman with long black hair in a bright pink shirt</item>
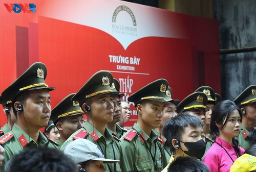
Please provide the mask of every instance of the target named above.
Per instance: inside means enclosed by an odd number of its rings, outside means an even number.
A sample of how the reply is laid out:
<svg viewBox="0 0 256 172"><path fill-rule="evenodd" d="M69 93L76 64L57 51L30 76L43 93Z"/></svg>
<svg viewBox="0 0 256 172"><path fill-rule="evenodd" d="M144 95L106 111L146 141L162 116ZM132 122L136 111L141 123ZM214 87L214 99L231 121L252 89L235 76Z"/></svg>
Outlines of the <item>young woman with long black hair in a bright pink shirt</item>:
<svg viewBox="0 0 256 172"><path fill-rule="evenodd" d="M210 134L216 136L216 141L203 159L211 172L229 172L233 162L244 153L234 139L239 134L241 120L239 107L229 100L218 103L212 110Z"/></svg>

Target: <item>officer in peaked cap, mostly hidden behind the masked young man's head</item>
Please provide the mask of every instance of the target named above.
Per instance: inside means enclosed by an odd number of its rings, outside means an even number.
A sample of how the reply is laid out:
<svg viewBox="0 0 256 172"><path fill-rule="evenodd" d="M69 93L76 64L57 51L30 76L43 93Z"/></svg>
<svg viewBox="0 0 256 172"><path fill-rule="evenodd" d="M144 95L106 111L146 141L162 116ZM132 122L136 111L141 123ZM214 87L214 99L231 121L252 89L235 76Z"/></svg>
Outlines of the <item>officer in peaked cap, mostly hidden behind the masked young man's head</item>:
<svg viewBox="0 0 256 172"><path fill-rule="evenodd" d="M207 96L205 93L196 91L189 94L183 101L177 106L177 112L186 112L189 114L199 117L205 124L205 112L208 111L206 108Z"/></svg>

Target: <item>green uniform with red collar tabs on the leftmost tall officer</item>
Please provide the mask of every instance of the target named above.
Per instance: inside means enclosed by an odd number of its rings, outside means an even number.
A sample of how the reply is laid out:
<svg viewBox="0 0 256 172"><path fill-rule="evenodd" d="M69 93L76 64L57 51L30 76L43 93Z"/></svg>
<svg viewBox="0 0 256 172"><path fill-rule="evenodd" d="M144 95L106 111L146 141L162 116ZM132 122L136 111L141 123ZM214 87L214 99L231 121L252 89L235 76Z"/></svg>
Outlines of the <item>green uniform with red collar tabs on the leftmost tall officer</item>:
<svg viewBox="0 0 256 172"><path fill-rule="evenodd" d="M49 148L56 148L57 144L50 141L44 134L39 131L38 144L34 141L27 133L25 133L16 124L13 125L12 131L6 133L0 137L0 144L4 147L4 161L5 164L8 160L12 159L13 156L20 151L27 148L34 148L37 146L47 146ZM1 169L2 168L2 169ZM0 171L4 171L4 166L0 166Z"/></svg>

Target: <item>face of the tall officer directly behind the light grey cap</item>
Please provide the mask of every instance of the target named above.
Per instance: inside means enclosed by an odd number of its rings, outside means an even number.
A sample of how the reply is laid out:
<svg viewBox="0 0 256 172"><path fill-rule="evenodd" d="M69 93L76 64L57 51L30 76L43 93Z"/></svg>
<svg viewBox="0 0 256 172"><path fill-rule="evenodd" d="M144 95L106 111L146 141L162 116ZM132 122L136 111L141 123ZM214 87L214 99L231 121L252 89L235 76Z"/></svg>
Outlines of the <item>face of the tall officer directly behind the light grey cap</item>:
<svg viewBox="0 0 256 172"><path fill-rule="evenodd" d="M91 118L94 122L106 124L113 120L114 103L111 93L91 97Z"/></svg>

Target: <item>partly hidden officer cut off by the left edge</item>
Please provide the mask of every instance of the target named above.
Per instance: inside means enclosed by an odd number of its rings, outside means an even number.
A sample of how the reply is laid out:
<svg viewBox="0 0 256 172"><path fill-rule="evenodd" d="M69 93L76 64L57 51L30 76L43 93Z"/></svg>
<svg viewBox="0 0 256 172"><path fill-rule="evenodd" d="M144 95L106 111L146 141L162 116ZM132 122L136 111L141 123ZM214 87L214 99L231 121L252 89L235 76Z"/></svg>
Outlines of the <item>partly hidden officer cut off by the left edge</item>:
<svg viewBox="0 0 256 172"><path fill-rule="evenodd" d="M16 116L12 110L12 101L5 100L2 96L0 96L0 104L3 105L4 113L7 116L7 122L4 125L3 129L0 130L0 136L4 135L4 133L8 133L11 131L14 122L16 121Z"/></svg>

